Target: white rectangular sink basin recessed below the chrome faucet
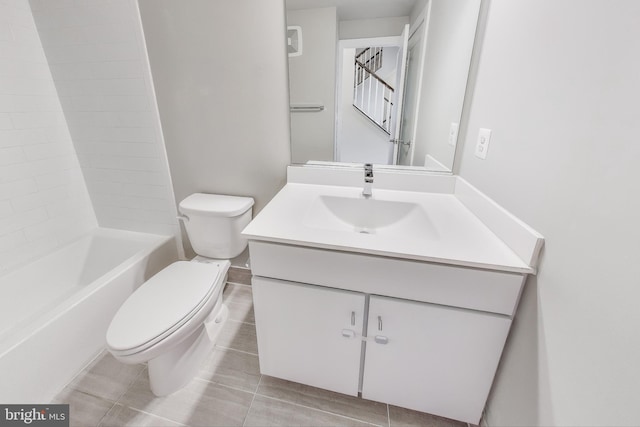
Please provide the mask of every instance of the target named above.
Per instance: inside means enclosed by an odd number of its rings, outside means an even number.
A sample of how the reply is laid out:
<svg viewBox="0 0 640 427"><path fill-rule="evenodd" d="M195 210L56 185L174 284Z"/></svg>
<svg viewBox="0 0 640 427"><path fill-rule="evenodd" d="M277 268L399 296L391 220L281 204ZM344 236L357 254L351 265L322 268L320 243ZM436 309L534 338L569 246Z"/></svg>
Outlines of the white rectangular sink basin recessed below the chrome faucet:
<svg viewBox="0 0 640 427"><path fill-rule="evenodd" d="M309 206L302 224L362 234L437 237L421 205L362 197L318 196Z"/></svg>

